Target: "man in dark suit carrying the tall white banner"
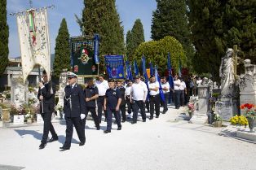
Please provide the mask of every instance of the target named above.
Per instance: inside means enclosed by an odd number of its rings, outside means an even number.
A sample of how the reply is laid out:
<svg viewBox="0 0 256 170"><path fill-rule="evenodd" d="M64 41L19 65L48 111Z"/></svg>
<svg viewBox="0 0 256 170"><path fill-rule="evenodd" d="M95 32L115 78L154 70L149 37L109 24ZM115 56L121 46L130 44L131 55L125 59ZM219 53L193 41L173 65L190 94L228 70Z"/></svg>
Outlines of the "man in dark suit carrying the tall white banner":
<svg viewBox="0 0 256 170"><path fill-rule="evenodd" d="M55 107L55 85L51 81L48 81L46 71L42 72L42 81L39 82L38 99L40 101L40 114L44 121L42 141L39 149L43 149L46 146L46 140L48 138L49 131L51 132L51 139L48 142L54 142L58 140L58 136L55 133L55 129L51 124L51 116Z"/></svg>

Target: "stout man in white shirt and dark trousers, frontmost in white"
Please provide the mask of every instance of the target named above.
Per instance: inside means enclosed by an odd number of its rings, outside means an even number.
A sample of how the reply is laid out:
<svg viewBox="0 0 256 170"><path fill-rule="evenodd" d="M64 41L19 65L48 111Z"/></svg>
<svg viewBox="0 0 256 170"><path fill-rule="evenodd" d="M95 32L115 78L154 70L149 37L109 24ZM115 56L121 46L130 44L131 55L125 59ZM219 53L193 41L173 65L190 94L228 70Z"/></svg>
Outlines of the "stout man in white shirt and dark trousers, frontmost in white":
<svg viewBox="0 0 256 170"><path fill-rule="evenodd" d="M146 122L145 101L148 95L147 85L140 80L140 76L135 76L135 83L132 84L130 89L130 102L133 105L134 114L132 116L132 123L137 123L138 112L142 116L143 122Z"/></svg>

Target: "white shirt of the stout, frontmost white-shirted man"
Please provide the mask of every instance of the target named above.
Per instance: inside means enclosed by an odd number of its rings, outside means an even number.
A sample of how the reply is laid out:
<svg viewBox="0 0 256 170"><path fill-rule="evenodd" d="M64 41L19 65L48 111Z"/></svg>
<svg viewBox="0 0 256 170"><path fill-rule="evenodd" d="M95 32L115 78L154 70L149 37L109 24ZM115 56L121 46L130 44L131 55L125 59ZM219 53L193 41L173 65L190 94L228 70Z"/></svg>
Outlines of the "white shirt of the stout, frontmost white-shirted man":
<svg viewBox="0 0 256 170"><path fill-rule="evenodd" d="M132 94L132 98L136 101L146 100L148 94L147 85L143 81L133 83L131 85L130 93Z"/></svg>

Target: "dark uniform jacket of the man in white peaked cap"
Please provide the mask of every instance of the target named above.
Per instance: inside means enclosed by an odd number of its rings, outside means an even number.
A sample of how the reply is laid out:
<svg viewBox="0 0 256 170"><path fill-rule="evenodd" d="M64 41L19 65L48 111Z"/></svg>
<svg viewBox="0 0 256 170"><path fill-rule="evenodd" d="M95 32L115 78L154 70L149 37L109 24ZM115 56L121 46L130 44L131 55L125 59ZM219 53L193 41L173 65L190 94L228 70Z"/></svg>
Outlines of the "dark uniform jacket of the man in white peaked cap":
<svg viewBox="0 0 256 170"><path fill-rule="evenodd" d="M85 114L86 102L83 90L79 85L67 85L64 89L64 114L65 117L79 117Z"/></svg>

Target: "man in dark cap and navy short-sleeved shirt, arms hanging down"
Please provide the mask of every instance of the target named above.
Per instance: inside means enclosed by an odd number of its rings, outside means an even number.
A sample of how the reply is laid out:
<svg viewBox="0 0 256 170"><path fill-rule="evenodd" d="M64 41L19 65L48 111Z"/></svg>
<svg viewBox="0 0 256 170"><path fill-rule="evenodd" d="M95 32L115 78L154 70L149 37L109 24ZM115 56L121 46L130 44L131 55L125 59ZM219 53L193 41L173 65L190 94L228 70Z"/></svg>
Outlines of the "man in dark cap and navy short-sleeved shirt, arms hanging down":
<svg viewBox="0 0 256 170"><path fill-rule="evenodd" d="M108 80L109 89L107 89L104 98L104 110L107 111L107 129L104 133L111 133L112 129L112 114L114 114L117 121L117 130L121 130L121 116L119 107L121 104L121 94L119 89L115 87L113 79Z"/></svg>

